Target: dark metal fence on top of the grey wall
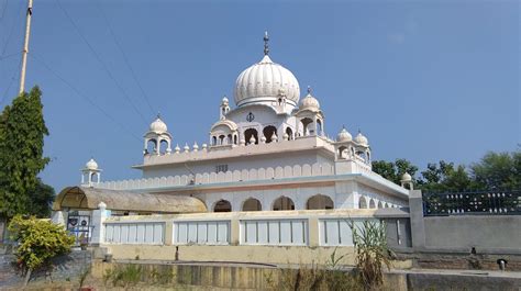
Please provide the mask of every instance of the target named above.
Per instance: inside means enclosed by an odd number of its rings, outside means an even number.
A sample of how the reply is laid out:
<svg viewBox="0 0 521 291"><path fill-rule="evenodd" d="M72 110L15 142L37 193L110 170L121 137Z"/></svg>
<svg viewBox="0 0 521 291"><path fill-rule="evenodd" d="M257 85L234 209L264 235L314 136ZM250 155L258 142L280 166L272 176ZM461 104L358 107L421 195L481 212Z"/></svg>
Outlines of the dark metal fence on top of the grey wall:
<svg viewBox="0 0 521 291"><path fill-rule="evenodd" d="M423 214L425 216L521 215L521 192L425 193L423 194Z"/></svg>

